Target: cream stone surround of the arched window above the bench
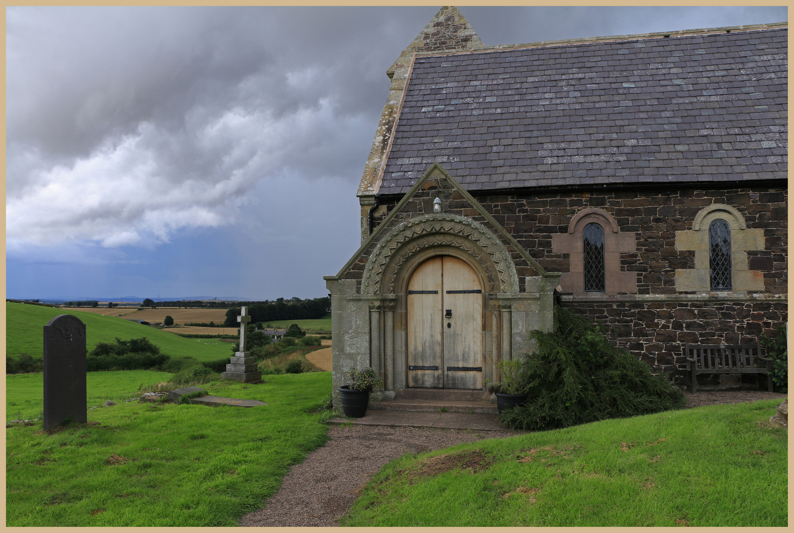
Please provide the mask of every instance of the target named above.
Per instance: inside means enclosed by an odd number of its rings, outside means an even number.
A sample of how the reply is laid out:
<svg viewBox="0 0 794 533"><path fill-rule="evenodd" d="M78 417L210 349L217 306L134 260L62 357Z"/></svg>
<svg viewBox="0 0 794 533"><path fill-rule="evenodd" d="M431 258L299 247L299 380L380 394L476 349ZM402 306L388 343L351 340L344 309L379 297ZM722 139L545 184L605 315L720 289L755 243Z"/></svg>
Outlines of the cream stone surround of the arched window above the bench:
<svg viewBox="0 0 794 533"><path fill-rule="evenodd" d="M708 228L714 220L725 220L730 226L730 278L732 291L765 290L764 274L750 270L747 265L748 250L764 250L764 230L747 228L737 209L726 204L712 204L700 209L692 221L692 229L676 231L676 250L695 251L695 267L676 269L676 291L712 291ZM730 291L729 291L730 292Z"/></svg>

